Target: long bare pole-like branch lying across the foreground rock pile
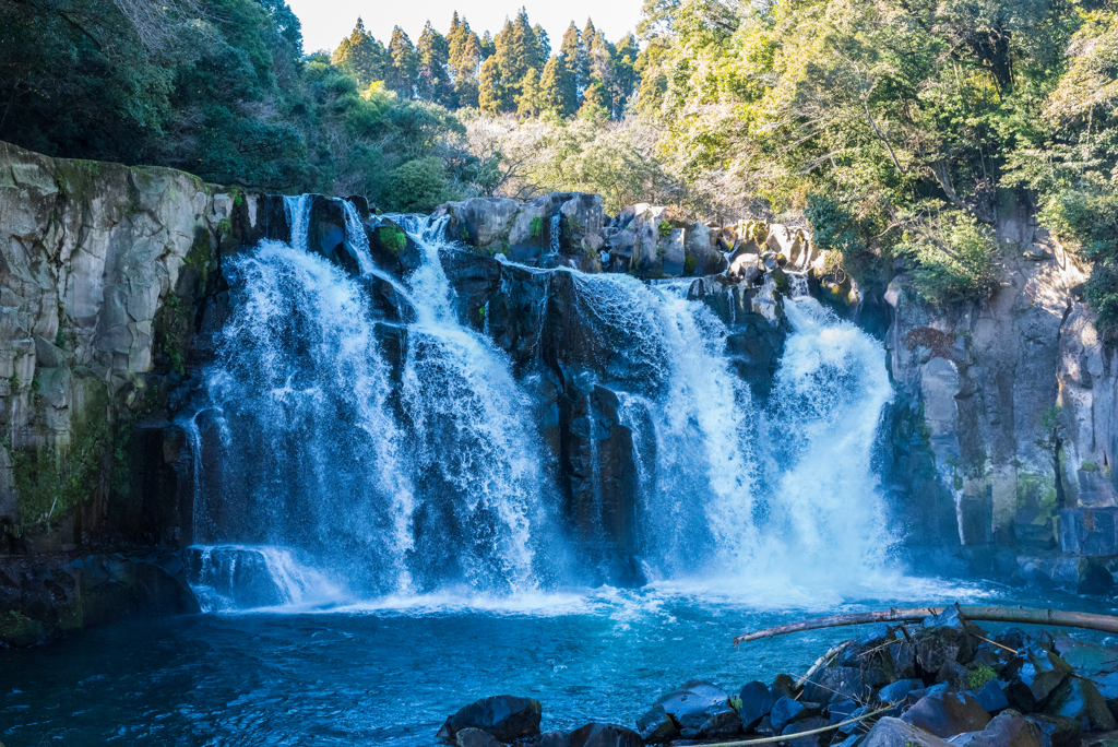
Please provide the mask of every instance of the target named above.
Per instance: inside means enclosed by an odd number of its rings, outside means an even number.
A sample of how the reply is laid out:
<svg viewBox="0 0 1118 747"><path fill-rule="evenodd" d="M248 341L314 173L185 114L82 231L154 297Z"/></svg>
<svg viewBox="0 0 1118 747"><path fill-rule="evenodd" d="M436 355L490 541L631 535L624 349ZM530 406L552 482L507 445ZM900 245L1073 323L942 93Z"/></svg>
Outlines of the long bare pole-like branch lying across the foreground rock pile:
<svg viewBox="0 0 1118 747"><path fill-rule="evenodd" d="M842 627L844 625L869 625L872 623L920 622L929 615L938 615L947 607L916 607L911 609L882 609L879 612L861 612L852 615L831 615L816 617L798 623L766 627L764 631L742 633L733 639L733 645L748 641L770 639L775 635L817 631L824 627ZM1118 633L1118 617L1095 615L1086 612L1060 612L1058 609L1025 609L1023 607L959 607L961 615L974 622L1016 623L1022 625L1059 625L1061 627L1080 627L1088 631Z"/></svg>

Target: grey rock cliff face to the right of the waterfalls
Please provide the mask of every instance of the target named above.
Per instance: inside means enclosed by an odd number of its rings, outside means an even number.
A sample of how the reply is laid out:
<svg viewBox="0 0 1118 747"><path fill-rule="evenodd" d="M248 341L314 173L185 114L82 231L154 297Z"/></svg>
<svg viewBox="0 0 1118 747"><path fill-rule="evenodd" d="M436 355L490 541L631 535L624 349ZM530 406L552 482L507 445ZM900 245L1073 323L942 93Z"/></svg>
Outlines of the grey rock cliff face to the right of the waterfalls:
<svg viewBox="0 0 1118 747"><path fill-rule="evenodd" d="M1100 590L1118 557L1118 371L1081 297L1089 267L1024 206L1003 208L997 237L986 301L931 306L904 275L884 294L902 394L892 490L916 543L957 541L973 569Z"/></svg>

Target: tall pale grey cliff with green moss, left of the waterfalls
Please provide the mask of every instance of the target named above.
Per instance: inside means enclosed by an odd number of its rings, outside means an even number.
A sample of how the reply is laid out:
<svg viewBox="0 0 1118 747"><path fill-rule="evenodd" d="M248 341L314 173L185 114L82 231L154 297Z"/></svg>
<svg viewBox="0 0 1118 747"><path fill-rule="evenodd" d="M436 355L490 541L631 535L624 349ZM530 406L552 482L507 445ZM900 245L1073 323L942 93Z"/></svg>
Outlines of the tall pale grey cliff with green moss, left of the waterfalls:
<svg viewBox="0 0 1118 747"><path fill-rule="evenodd" d="M286 231L281 198L0 143L0 617L22 631L0 641L197 608L150 561L190 542L171 420L220 253Z"/></svg>

